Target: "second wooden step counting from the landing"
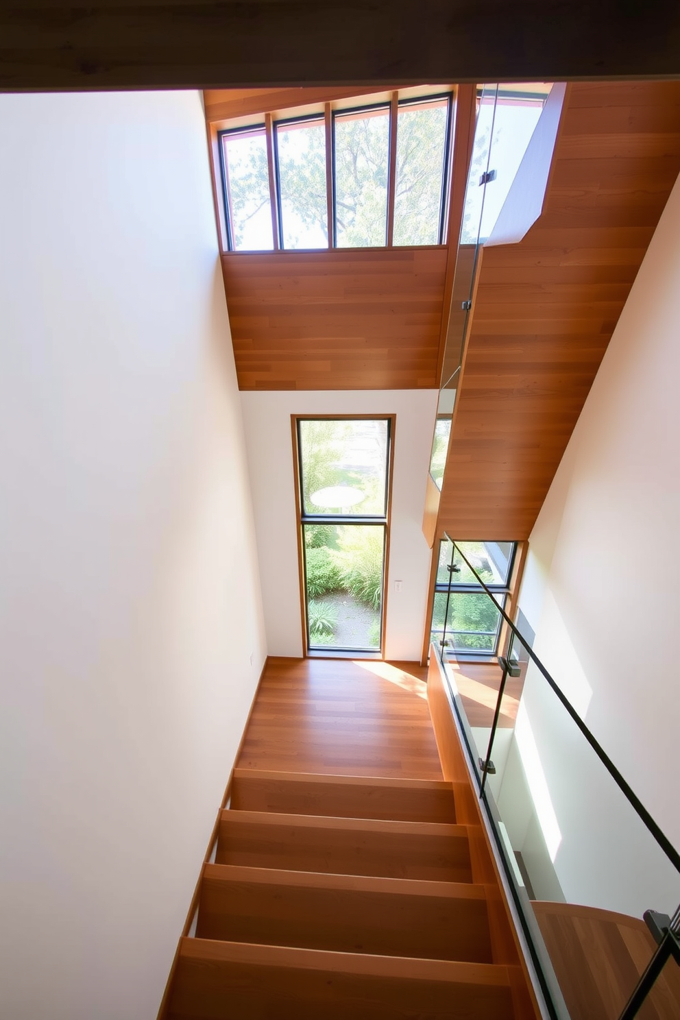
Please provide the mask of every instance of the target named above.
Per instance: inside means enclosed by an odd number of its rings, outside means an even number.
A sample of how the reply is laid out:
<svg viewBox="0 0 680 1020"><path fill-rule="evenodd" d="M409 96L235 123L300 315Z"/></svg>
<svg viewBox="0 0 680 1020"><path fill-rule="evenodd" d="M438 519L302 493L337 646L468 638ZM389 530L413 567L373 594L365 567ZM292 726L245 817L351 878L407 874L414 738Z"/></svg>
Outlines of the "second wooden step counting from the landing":
<svg viewBox="0 0 680 1020"><path fill-rule="evenodd" d="M472 881L465 825L224 810L217 864Z"/></svg>

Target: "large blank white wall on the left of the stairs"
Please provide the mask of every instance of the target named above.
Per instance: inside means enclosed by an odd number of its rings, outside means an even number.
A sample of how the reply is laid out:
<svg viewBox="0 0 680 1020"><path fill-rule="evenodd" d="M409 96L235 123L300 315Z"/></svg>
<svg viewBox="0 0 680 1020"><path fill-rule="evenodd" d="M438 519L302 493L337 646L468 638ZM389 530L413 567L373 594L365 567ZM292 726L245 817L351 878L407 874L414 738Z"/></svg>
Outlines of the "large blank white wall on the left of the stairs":
<svg viewBox="0 0 680 1020"><path fill-rule="evenodd" d="M142 1020L265 654L205 128L0 124L0 1015Z"/></svg>

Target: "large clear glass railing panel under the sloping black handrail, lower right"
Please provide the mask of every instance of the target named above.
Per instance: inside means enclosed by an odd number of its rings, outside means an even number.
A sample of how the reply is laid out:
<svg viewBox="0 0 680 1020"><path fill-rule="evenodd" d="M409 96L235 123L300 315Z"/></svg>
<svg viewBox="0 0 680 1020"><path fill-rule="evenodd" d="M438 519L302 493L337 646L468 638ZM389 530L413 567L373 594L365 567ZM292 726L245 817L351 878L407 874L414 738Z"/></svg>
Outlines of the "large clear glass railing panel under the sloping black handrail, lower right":
<svg viewBox="0 0 680 1020"><path fill-rule="evenodd" d="M571 1020L618 1020L656 949L643 914L673 913L680 873L537 666L522 671L509 747L496 731L489 750L488 795Z"/></svg>

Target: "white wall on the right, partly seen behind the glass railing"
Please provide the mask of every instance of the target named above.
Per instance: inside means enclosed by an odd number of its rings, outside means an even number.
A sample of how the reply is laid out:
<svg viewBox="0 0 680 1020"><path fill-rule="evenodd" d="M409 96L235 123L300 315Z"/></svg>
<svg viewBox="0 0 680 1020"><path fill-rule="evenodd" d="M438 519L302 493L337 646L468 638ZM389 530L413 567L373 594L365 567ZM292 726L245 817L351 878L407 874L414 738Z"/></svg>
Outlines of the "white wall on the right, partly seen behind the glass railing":
<svg viewBox="0 0 680 1020"><path fill-rule="evenodd" d="M520 605L534 651L680 848L678 223L680 185L531 534ZM567 899L672 912L680 881L537 677L523 703L561 833L554 863Z"/></svg>

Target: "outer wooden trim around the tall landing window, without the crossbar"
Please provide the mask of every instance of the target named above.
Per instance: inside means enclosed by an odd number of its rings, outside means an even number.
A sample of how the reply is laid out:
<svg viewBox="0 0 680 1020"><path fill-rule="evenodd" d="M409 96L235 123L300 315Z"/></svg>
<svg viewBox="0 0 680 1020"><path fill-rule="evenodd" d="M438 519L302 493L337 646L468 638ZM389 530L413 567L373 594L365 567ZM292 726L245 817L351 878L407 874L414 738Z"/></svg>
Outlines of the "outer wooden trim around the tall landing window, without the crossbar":
<svg viewBox="0 0 680 1020"><path fill-rule="evenodd" d="M300 501L300 450L298 447L298 421L308 421L308 420L328 420L328 421L389 421L389 447L388 447L388 460L387 460L387 500L385 507L385 519L384 519L384 529L385 529L385 541L384 541L384 564L382 573L382 606L381 606L381 619L380 619L380 659L385 657L385 644L387 638L387 593L389 588L389 532L391 523L391 490L393 480L395 472L395 434L397 430L397 415L396 414L315 414L313 411L300 414L291 415L291 435L293 441L293 478L295 484L295 502L296 502L296 531L298 536L298 583L300 588L300 624L302 630L302 654L304 658L309 655L309 648L307 644L307 603L305 598L305 563L303 556L303 544L304 544L304 532L303 532L303 521L302 521L302 507ZM331 521L329 521L331 523ZM377 523L377 522L376 522ZM382 523L381 521L379 523ZM370 525L369 525L370 526ZM329 653L332 653L332 649L329 647ZM341 653L342 654L342 653ZM352 658L361 658L362 653L348 652L347 656ZM322 658L322 653L314 650L315 658ZM329 658L338 657L338 653L328 656ZM374 654L370 655L370 658L375 658Z"/></svg>

